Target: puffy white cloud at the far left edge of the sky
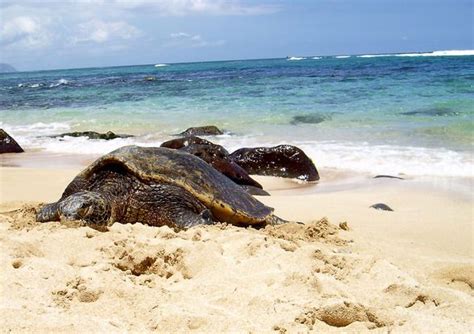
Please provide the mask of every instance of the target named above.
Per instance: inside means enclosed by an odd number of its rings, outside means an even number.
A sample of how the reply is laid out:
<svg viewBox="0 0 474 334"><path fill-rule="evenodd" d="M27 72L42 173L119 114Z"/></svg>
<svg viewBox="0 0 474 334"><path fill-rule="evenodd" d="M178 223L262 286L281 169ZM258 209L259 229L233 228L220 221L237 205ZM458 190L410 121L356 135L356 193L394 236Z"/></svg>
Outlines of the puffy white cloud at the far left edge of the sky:
<svg viewBox="0 0 474 334"><path fill-rule="evenodd" d="M48 46L52 33L49 22L31 16L17 16L0 25L0 45L2 47L42 48Z"/></svg>

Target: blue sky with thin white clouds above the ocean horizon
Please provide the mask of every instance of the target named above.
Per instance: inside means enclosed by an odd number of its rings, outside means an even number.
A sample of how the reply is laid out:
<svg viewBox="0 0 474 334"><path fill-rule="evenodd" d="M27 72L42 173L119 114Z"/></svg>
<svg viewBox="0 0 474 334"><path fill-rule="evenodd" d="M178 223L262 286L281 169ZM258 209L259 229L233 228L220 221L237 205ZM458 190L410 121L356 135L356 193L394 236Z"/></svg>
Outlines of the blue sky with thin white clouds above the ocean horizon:
<svg viewBox="0 0 474 334"><path fill-rule="evenodd" d="M473 0L0 0L0 63L46 70L474 49Z"/></svg>

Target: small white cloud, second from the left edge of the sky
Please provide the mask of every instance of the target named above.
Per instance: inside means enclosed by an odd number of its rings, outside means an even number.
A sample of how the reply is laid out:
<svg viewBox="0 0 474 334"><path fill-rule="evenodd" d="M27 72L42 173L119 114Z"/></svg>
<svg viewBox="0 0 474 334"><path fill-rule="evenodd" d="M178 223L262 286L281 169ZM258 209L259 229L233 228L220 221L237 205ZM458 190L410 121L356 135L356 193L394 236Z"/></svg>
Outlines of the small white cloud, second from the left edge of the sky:
<svg viewBox="0 0 474 334"><path fill-rule="evenodd" d="M125 21L104 22L91 20L80 23L75 29L75 34L70 38L72 44L78 43L106 43L114 40L126 40L137 37L140 30Z"/></svg>

